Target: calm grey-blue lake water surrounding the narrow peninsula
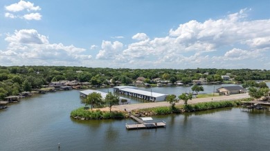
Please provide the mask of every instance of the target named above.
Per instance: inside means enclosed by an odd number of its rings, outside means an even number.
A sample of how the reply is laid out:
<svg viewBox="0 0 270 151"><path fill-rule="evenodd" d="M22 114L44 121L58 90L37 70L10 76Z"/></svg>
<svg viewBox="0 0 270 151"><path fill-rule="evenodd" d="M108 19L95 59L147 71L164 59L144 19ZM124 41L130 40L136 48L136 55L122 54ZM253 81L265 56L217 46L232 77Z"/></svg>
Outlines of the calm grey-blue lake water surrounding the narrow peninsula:
<svg viewBox="0 0 270 151"><path fill-rule="evenodd" d="M160 90L179 92L173 88ZM58 150L58 143L60 150L270 149L269 108L222 108L156 116L154 120L165 121L166 128L126 130L125 123L132 123L131 119L71 119L71 110L83 106L79 94L79 90L37 94L1 110L0 150Z"/></svg>

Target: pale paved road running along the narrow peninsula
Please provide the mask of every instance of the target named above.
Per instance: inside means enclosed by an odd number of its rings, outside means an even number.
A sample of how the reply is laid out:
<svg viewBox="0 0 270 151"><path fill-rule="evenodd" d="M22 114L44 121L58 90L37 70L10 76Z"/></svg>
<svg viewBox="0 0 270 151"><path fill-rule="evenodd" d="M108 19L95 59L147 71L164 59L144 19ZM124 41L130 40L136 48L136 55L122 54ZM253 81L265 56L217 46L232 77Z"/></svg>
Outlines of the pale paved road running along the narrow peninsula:
<svg viewBox="0 0 270 151"><path fill-rule="evenodd" d="M232 101L235 99L243 99L243 98L249 98L249 94L248 93L232 94L229 96L192 99L188 101L188 104L210 102L210 101ZM176 105L183 105L183 101L179 101L179 103L176 103ZM128 104L128 105L115 105L115 106L112 106L111 110L125 110L125 109L136 110L136 109L143 109L143 108L156 108L156 107L161 107L161 106L170 106L170 103L166 101L161 101L161 102L138 103L138 104Z"/></svg>

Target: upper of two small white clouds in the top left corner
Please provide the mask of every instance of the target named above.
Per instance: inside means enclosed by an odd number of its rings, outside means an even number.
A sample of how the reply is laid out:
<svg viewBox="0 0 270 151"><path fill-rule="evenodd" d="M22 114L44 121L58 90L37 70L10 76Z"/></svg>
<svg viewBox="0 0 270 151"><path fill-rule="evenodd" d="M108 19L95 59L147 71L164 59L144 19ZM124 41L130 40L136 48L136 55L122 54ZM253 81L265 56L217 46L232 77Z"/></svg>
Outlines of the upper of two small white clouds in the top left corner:
<svg viewBox="0 0 270 151"><path fill-rule="evenodd" d="M34 3L31 3L30 1L19 1L18 3L12 3L10 6L5 6L5 8L10 12L19 12L22 10L27 10L29 12L30 10L41 10L39 6L34 6Z"/></svg>

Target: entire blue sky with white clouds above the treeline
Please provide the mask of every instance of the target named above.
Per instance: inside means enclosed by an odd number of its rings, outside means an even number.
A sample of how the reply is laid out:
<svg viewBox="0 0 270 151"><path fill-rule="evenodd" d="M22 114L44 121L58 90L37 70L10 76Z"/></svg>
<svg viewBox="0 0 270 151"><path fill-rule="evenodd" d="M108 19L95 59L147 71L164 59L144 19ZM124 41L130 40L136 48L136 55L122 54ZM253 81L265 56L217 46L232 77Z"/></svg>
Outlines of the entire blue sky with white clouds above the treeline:
<svg viewBox="0 0 270 151"><path fill-rule="evenodd" d="M270 70L270 1L0 1L0 66Z"/></svg>

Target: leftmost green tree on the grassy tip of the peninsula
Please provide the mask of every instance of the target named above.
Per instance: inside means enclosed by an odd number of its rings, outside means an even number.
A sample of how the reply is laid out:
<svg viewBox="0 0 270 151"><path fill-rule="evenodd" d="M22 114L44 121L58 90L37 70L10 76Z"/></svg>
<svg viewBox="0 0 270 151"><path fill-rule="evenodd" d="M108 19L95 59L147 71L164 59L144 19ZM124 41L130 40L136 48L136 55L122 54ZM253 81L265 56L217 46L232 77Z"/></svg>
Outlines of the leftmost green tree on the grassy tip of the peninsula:
<svg viewBox="0 0 270 151"><path fill-rule="evenodd" d="M82 103L85 103L85 105L91 105L91 110L93 110L94 106L96 104L99 104L102 102L101 94L98 92L91 92L88 94L86 99L82 100Z"/></svg>

